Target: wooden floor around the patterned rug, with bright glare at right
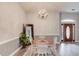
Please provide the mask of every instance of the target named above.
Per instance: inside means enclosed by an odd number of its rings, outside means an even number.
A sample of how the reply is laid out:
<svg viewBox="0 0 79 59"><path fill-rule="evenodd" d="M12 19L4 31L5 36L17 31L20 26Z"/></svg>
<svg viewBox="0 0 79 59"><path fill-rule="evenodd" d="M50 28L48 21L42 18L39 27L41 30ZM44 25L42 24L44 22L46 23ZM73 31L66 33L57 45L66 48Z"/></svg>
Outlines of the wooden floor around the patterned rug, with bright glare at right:
<svg viewBox="0 0 79 59"><path fill-rule="evenodd" d="M35 39L32 45L54 45L53 40L51 39ZM15 56L22 56L27 51L29 51L29 47L27 46L25 49L21 49L18 51ZM55 53L55 52L54 52ZM79 56L79 43L61 43L56 45L56 56Z"/></svg>

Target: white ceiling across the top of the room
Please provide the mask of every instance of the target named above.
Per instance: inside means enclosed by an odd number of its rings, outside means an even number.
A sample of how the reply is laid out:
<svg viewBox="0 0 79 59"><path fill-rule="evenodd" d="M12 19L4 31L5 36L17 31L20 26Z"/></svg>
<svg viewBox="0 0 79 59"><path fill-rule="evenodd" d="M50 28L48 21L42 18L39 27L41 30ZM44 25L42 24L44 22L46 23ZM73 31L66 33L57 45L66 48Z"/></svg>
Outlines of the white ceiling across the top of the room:
<svg viewBox="0 0 79 59"><path fill-rule="evenodd" d="M40 9L56 12L79 12L79 2L22 2L19 4L26 12ZM75 9L75 11L72 11L72 9Z"/></svg>

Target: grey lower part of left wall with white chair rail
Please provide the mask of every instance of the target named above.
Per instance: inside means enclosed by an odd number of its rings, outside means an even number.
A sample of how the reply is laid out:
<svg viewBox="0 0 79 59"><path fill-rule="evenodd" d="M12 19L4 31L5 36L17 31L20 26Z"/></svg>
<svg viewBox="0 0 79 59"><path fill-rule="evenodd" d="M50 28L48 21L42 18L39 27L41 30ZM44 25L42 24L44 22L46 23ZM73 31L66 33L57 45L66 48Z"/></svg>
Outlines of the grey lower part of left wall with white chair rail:
<svg viewBox="0 0 79 59"><path fill-rule="evenodd" d="M19 37L6 39L0 42L0 54L2 56L13 55L14 51L19 48Z"/></svg>

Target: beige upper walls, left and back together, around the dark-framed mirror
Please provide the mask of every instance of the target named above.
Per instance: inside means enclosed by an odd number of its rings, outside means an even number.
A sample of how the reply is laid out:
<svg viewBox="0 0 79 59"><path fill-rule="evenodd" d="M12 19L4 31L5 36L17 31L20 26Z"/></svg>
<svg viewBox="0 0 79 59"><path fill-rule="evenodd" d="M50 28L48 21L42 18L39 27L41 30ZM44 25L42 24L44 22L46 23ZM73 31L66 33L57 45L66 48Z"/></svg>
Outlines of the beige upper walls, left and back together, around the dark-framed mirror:
<svg viewBox="0 0 79 59"><path fill-rule="evenodd" d="M35 35L59 35L58 12L48 12L43 20L37 11L26 14L18 3L0 3L0 41L17 37L23 21L34 24Z"/></svg>

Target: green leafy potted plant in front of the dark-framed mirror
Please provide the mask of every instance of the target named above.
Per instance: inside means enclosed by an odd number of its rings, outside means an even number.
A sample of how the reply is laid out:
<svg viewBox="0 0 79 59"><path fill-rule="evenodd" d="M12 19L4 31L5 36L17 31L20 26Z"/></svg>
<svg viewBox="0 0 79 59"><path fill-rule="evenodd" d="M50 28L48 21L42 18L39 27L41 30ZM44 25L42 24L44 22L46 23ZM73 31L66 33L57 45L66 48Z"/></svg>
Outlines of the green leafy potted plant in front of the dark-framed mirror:
<svg viewBox="0 0 79 59"><path fill-rule="evenodd" d="M22 48L25 48L26 45L30 44L29 37L24 32L20 33L19 41L20 44L22 45Z"/></svg>

